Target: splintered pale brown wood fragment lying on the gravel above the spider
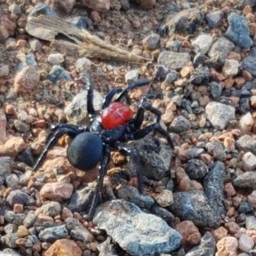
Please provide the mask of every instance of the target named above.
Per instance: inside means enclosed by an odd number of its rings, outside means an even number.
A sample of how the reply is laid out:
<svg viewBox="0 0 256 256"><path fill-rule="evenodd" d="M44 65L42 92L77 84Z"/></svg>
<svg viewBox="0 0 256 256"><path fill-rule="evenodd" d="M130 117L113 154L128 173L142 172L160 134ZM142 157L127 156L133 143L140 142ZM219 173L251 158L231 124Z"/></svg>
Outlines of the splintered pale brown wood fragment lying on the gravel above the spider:
<svg viewBox="0 0 256 256"><path fill-rule="evenodd" d="M38 17L28 17L26 31L29 35L35 36L42 40L54 42L58 47L71 47L77 45L87 58L99 58L101 60L118 60L131 63L143 63L143 61L152 61L133 54L124 49L115 47L114 45L104 42L98 36L91 35L88 31L78 29L66 22L60 17L51 17L39 15ZM58 40L56 36L66 36L74 43ZM58 42L58 43L57 43ZM62 45L62 46L61 46ZM76 47L71 47L73 50Z"/></svg>

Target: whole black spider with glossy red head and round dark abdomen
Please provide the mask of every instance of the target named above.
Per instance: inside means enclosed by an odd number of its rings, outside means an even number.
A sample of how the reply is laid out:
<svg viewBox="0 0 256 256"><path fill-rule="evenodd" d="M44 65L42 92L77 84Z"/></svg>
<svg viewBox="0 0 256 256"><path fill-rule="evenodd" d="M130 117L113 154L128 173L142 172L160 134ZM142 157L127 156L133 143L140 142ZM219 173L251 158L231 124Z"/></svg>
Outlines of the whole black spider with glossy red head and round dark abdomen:
<svg viewBox="0 0 256 256"><path fill-rule="evenodd" d="M47 151L54 147L61 136L68 134L70 143L67 148L67 158L70 164L84 172L92 170L99 164L97 185L88 214L88 220L92 220L101 198L103 179L106 175L106 166L109 163L111 149L118 150L124 156L130 156L133 159L138 177L138 191L142 194L142 173L138 156L133 148L123 147L122 143L140 140L150 132L159 132L166 138L172 148L173 143L168 132L159 125L161 111L148 104L147 97L141 99L136 114L128 106L128 104L131 104L128 97L129 91L149 84L150 80L138 80L128 84L124 90L120 88L111 89L102 102L102 110L99 116L95 114L93 108L92 78L83 77L83 83L86 85L86 90L88 90L87 110L90 116L90 124L86 127L77 127L71 124L51 125L51 132L45 141L44 150L38 157L33 170L35 171L40 166L47 155ZM121 102L124 98L126 98L128 104ZM141 129L145 110L154 113L157 116L157 121Z"/></svg>

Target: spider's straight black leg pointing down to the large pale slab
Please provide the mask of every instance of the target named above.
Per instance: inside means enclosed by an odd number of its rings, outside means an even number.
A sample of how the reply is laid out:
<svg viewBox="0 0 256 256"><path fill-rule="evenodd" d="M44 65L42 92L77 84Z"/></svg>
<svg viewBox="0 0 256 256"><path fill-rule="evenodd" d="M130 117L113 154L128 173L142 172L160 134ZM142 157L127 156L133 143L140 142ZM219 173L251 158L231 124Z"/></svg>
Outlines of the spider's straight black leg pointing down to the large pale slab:
<svg viewBox="0 0 256 256"><path fill-rule="evenodd" d="M92 220L95 211L96 211L96 207L99 204L99 200L100 200L100 195L101 195L101 191L102 191L102 185L103 185L103 180L104 180L104 176L106 175L106 168L107 168L107 164L109 162L110 159L110 148L108 145L104 145L104 153L103 153L103 157L100 161L100 167L99 167L99 175L97 177L97 186L96 186L96 191L95 191L95 195L93 197L92 200L92 205L88 214L88 219Z"/></svg>

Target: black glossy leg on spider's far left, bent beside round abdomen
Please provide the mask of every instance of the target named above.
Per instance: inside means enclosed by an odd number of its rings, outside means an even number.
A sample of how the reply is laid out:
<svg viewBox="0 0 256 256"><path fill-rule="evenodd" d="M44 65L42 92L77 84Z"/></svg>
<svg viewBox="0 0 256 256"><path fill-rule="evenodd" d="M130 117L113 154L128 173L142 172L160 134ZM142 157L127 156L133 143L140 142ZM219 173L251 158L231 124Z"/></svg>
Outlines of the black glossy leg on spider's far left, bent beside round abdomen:
<svg viewBox="0 0 256 256"><path fill-rule="evenodd" d="M59 124L59 125L52 125L51 132L47 136L45 140L44 150L36 160L35 166L33 167L33 171L35 171L38 166L44 161L45 157L47 156L48 150L51 150L54 145L60 140L61 136L64 134L68 134L70 138L74 138L79 134L80 131L76 126L70 124Z"/></svg>

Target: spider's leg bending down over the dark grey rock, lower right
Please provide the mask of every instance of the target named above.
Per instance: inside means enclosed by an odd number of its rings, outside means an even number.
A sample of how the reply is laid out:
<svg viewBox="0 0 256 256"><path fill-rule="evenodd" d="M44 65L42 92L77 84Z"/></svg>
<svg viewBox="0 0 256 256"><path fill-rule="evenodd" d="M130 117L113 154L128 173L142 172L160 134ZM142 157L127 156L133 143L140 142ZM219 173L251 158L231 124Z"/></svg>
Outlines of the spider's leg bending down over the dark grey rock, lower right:
<svg viewBox="0 0 256 256"><path fill-rule="evenodd" d="M141 163L140 157L136 154L136 150L134 148L122 147L121 143L117 142L115 147L119 150L119 152L124 156L129 156L131 158L133 166L135 166L136 174L138 178L138 191L140 194L143 193L143 177L141 173Z"/></svg>

